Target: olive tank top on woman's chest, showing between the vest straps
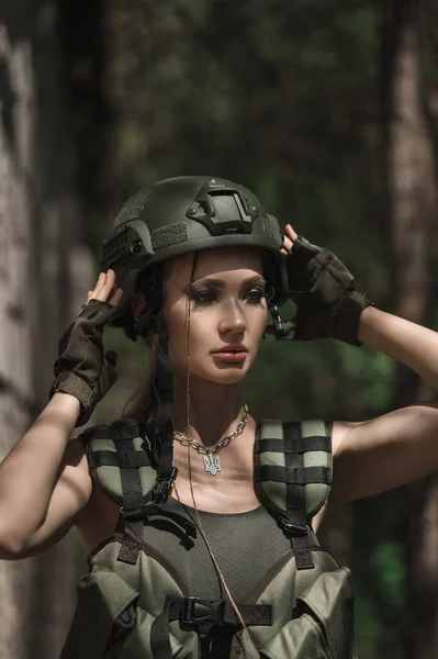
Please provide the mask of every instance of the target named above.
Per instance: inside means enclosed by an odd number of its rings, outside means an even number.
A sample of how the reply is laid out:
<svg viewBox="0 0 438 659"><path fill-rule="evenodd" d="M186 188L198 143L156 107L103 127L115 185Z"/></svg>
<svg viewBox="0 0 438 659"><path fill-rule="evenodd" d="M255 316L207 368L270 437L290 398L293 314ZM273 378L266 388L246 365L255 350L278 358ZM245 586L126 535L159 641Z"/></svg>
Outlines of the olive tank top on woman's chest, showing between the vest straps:
<svg viewBox="0 0 438 659"><path fill-rule="evenodd" d="M196 527L190 538L166 512L179 513ZM291 543L263 506L246 513L209 513L199 511L204 533L213 549L226 584L236 602L256 602L288 558ZM160 562L170 563L178 581L191 596L228 599L198 528L194 509L173 498L162 505L162 515L146 522L145 550Z"/></svg>

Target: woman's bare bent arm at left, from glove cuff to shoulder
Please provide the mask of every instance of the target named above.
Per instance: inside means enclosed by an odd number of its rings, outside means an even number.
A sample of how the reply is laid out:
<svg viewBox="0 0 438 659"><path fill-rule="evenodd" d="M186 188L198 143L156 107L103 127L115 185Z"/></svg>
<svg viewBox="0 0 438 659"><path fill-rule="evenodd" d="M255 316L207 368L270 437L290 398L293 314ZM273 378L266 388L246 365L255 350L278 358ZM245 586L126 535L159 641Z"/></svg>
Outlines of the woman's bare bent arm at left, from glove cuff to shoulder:
<svg viewBox="0 0 438 659"><path fill-rule="evenodd" d="M80 442L70 442L79 401L56 393L0 465L0 558L56 543L91 493Z"/></svg>

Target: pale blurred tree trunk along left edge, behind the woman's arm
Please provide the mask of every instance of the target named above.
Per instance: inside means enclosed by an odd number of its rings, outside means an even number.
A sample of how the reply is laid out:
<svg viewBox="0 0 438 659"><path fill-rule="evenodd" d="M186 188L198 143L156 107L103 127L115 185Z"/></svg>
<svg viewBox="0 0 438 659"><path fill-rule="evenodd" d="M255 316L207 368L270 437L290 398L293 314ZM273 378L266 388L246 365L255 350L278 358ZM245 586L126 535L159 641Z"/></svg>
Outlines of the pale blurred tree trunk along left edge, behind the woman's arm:
<svg viewBox="0 0 438 659"><path fill-rule="evenodd" d="M55 4L2 3L0 459L47 404L57 340L91 275L78 246L56 34ZM77 555L70 534L38 557L0 561L0 659L57 657L72 615Z"/></svg>

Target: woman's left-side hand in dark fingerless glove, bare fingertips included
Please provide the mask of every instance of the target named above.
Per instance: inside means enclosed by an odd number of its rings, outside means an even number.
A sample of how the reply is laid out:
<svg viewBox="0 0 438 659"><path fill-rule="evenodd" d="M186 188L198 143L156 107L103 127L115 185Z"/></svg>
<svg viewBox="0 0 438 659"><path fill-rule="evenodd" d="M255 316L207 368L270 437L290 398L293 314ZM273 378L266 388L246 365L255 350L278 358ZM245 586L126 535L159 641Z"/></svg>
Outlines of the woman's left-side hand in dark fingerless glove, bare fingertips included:
<svg viewBox="0 0 438 659"><path fill-rule="evenodd" d="M117 355L113 350L103 354L102 340L103 327L123 297L122 289L117 289L110 298L114 284L113 270L100 273L94 290L88 291L87 303L58 344L49 398L61 391L78 399L81 412L76 427L87 423L120 375Z"/></svg>

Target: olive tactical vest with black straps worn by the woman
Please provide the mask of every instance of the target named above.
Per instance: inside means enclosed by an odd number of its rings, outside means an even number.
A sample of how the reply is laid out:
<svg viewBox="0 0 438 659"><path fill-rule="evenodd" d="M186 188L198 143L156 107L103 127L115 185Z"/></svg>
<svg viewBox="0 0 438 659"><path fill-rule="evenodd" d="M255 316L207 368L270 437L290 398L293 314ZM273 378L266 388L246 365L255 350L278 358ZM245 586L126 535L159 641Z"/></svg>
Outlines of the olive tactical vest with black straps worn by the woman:
<svg viewBox="0 0 438 659"><path fill-rule="evenodd" d="M257 425L255 491L291 551L256 602L237 601L250 640L227 600L184 592L176 566L146 551L147 521L160 506L151 503L157 470L145 431L123 420L81 435L92 476L121 515L88 557L60 659L356 659L350 572L321 549L311 526L332 483L330 424ZM172 522L195 536L182 515Z"/></svg>

